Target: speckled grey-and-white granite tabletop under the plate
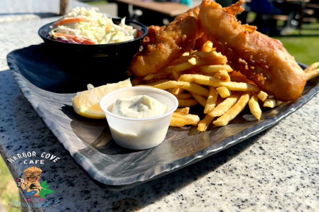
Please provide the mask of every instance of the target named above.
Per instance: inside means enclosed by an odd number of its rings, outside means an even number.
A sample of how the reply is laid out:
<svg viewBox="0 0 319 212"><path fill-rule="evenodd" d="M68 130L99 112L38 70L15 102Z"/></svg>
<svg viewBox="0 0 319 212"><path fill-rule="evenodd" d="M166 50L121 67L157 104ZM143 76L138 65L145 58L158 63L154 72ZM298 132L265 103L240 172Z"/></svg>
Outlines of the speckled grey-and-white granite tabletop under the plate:
<svg viewBox="0 0 319 212"><path fill-rule="evenodd" d="M46 211L319 208L319 96L263 133L172 174L119 192L98 187L33 111L6 64L10 51L41 43L37 30L52 21L48 18L0 27L0 152L5 159L25 151L49 152L61 158L56 163L45 161L39 165L43 170L41 179L48 180L55 191L47 195L46 202L56 198L62 202ZM9 164L14 178L29 166L19 161Z"/></svg>

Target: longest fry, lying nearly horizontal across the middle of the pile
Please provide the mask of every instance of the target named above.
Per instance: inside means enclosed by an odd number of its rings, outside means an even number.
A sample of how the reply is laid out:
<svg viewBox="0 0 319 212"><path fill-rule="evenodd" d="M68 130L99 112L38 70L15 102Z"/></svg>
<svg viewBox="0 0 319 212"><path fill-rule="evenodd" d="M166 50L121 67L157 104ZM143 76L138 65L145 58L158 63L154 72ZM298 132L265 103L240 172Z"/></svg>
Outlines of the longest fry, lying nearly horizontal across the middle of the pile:
<svg viewBox="0 0 319 212"><path fill-rule="evenodd" d="M197 82L201 85L210 85L213 87L226 87L231 91L244 91L244 92L260 92L256 85L243 82L223 82L213 77L208 77L200 74L182 74L179 81L183 82Z"/></svg>

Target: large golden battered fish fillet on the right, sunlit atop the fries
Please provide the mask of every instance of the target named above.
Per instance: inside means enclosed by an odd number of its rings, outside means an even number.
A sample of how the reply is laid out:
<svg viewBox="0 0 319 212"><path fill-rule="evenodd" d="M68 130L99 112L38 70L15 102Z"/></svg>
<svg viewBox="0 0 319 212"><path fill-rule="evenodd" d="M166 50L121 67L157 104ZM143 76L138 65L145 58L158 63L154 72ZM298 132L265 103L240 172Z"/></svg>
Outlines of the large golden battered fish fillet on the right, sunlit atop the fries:
<svg viewBox="0 0 319 212"><path fill-rule="evenodd" d="M280 101L298 98L306 83L305 73L280 41L237 21L235 15L243 11L242 3L244 0L222 8L204 0L198 15L200 27L234 70Z"/></svg>

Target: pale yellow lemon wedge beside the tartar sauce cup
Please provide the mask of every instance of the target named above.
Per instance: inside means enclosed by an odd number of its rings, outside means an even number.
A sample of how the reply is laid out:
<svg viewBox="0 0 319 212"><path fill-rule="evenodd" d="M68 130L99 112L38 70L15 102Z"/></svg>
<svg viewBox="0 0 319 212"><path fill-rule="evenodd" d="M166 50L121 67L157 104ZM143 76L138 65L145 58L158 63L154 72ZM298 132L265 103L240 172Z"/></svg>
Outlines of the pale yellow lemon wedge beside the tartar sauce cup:
<svg viewBox="0 0 319 212"><path fill-rule="evenodd" d="M86 118L105 119L105 113L100 108L100 100L107 93L125 87L132 87L130 79L96 88L90 85L88 86L89 90L78 92L72 99L73 109Z"/></svg>

